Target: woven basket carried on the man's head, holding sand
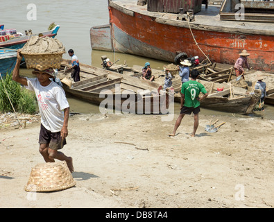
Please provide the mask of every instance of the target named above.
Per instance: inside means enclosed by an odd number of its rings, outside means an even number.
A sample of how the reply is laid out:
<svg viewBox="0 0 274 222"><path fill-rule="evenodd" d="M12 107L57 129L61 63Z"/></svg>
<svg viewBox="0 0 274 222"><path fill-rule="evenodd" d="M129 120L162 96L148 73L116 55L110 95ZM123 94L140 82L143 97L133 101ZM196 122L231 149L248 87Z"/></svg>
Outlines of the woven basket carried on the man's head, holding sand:
<svg viewBox="0 0 274 222"><path fill-rule="evenodd" d="M34 54L34 53L22 53L26 60L27 69L38 69L43 71L45 69L60 69L62 54L61 53L51 53L51 54Z"/></svg>

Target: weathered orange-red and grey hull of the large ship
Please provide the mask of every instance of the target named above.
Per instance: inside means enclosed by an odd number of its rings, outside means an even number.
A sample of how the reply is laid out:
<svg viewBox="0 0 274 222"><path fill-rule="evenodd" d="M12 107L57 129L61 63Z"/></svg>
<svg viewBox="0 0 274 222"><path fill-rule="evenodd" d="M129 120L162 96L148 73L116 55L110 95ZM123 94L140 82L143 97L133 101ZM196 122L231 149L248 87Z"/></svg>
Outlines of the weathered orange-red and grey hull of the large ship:
<svg viewBox="0 0 274 222"><path fill-rule="evenodd" d="M234 65L239 53L246 49L253 69L274 72L273 24L241 26L239 22L219 21L209 12L188 23L176 20L175 14L148 12L145 6L133 6L132 2L124 1L109 1L109 12L111 37L107 41L112 46L111 51L169 62L174 62L178 51L200 59L205 58L204 52L212 62ZM91 39L93 37L94 32L91 32ZM96 49L96 44L92 49Z"/></svg>

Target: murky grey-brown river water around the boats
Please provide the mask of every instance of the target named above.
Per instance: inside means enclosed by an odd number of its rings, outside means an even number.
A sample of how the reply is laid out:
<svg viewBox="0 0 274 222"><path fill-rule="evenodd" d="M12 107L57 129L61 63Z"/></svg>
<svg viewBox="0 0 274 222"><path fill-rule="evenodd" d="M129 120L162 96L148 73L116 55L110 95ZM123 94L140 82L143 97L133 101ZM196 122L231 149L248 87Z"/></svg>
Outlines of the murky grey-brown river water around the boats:
<svg viewBox="0 0 274 222"><path fill-rule="evenodd" d="M137 0L131 0L137 2ZM31 3L33 2L33 3ZM92 50L90 44L89 30L92 26L101 26L108 24L108 0L12 0L5 4L4 10L0 13L0 23L5 28L16 28L17 31L24 33L31 29L33 33L46 31L49 24L54 22L60 25L60 30L56 38L64 44L66 51L74 49L80 62L101 67L101 56L108 56L112 61L119 59L117 64L123 64L126 61L129 67L133 65L143 66L149 61L153 69L162 69L169 63L132 56L123 53L112 53L105 51ZM70 59L65 53L63 58ZM31 71L21 69L21 74L31 76ZM99 113L99 106L78 101L68 96L71 111L81 113ZM175 103L175 114L179 113L179 104ZM214 110L201 109L201 114L225 115L233 114L225 112L216 112ZM264 116L266 119L274 119L274 107L267 106L264 112L257 112L256 117ZM246 117L236 115L236 117Z"/></svg>

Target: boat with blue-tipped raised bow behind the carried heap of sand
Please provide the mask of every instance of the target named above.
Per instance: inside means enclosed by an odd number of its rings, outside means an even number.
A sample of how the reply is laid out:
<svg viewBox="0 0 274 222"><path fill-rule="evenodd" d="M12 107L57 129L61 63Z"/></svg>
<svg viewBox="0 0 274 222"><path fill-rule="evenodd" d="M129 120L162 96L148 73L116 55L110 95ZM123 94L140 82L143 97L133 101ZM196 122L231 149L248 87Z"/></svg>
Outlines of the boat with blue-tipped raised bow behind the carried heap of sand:
<svg viewBox="0 0 274 222"><path fill-rule="evenodd" d="M24 44L26 44L28 39L33 35L55 37L55 35L57 35L59 28L60 28L60 26L55 26L50 31L44 31L42 33L24 35L21 37L16 37L16 38L7 40L5 42L0 42L0 49L21 49L24 46Z"/></svg>

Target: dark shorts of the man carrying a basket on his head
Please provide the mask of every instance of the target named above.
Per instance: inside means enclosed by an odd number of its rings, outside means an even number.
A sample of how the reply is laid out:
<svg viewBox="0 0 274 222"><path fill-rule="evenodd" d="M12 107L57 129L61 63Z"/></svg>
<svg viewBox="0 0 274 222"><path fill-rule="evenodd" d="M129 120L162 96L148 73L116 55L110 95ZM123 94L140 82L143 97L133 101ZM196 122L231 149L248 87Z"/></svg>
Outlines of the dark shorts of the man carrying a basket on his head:
<svg viewBox="0 0 274 222"><path fill-rule="evenodd" d="M66 138L62 139L60 132L51 133L51 131L44 128L42 124L40 127L39 143L49 144L49 148L55 151L60 150L65 144L67 144Z"/></svg>

